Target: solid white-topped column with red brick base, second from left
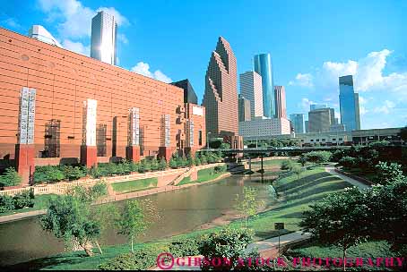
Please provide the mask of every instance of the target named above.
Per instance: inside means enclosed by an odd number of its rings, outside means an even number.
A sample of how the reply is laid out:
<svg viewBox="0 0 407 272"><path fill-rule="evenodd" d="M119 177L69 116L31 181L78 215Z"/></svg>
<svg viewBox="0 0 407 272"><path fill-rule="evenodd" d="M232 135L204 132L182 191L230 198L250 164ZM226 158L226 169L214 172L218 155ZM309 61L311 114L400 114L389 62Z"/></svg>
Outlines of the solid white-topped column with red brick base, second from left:
<svg viewBox="0 0 407 272"><path fill-rule="evenodd" d="M98 101L83 101L83 129L81 146L81 164L88 168L98 165L98 149L96 147L96 108Z"/></svg>

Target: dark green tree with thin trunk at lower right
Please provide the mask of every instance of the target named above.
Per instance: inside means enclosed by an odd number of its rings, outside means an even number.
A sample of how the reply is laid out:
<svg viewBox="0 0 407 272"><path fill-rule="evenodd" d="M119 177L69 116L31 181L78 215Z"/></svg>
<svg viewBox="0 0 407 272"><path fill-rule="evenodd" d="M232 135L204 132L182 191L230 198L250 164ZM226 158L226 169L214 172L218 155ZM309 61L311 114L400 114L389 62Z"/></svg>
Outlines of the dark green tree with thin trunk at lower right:
<svg viewBox="0 0 407 272"><path fill-rule="evenodd" d="M358 188L347 188L333 193L311 205L303 213L300 226L319 242L335 244L343 252L343 270L346 251L368 238L368 201Z"/></svg>

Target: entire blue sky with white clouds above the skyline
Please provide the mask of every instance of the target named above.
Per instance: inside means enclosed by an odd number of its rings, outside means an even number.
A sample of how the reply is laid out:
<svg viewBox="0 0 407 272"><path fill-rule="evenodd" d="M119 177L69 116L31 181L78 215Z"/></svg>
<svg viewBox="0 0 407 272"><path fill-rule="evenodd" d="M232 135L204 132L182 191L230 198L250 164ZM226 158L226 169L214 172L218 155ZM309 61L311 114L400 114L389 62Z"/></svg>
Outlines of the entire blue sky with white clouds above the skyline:
<svg viewBox="0 0 407 272"><path fill-rule="evenodd" d="M4 1L0 25L26 34L42 24L66 48L89 55L91 17L119 24L119 66L160 81L188 78L202 100L219 36L238 73L255 54L273 58L274 84L286 87L288 114L327 103L339 114L338 76L354 74L363 129L407 124L407 1L156 0Z"/></svg>

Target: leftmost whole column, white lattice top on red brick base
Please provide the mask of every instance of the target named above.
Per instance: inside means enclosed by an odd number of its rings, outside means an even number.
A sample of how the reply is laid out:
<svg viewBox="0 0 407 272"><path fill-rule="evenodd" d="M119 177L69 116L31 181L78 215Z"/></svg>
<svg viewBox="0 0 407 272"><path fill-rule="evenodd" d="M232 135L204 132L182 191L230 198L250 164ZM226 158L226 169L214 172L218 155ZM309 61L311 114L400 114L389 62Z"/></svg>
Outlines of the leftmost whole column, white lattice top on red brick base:
<svg viewBox="0 0 407 272"><path fill-rule="evenodd" d="M35 170L34 123L35 89L23 87L20 94L18 143L15 145L15 165L22 176L22 186L29 185Z"/></svg>

